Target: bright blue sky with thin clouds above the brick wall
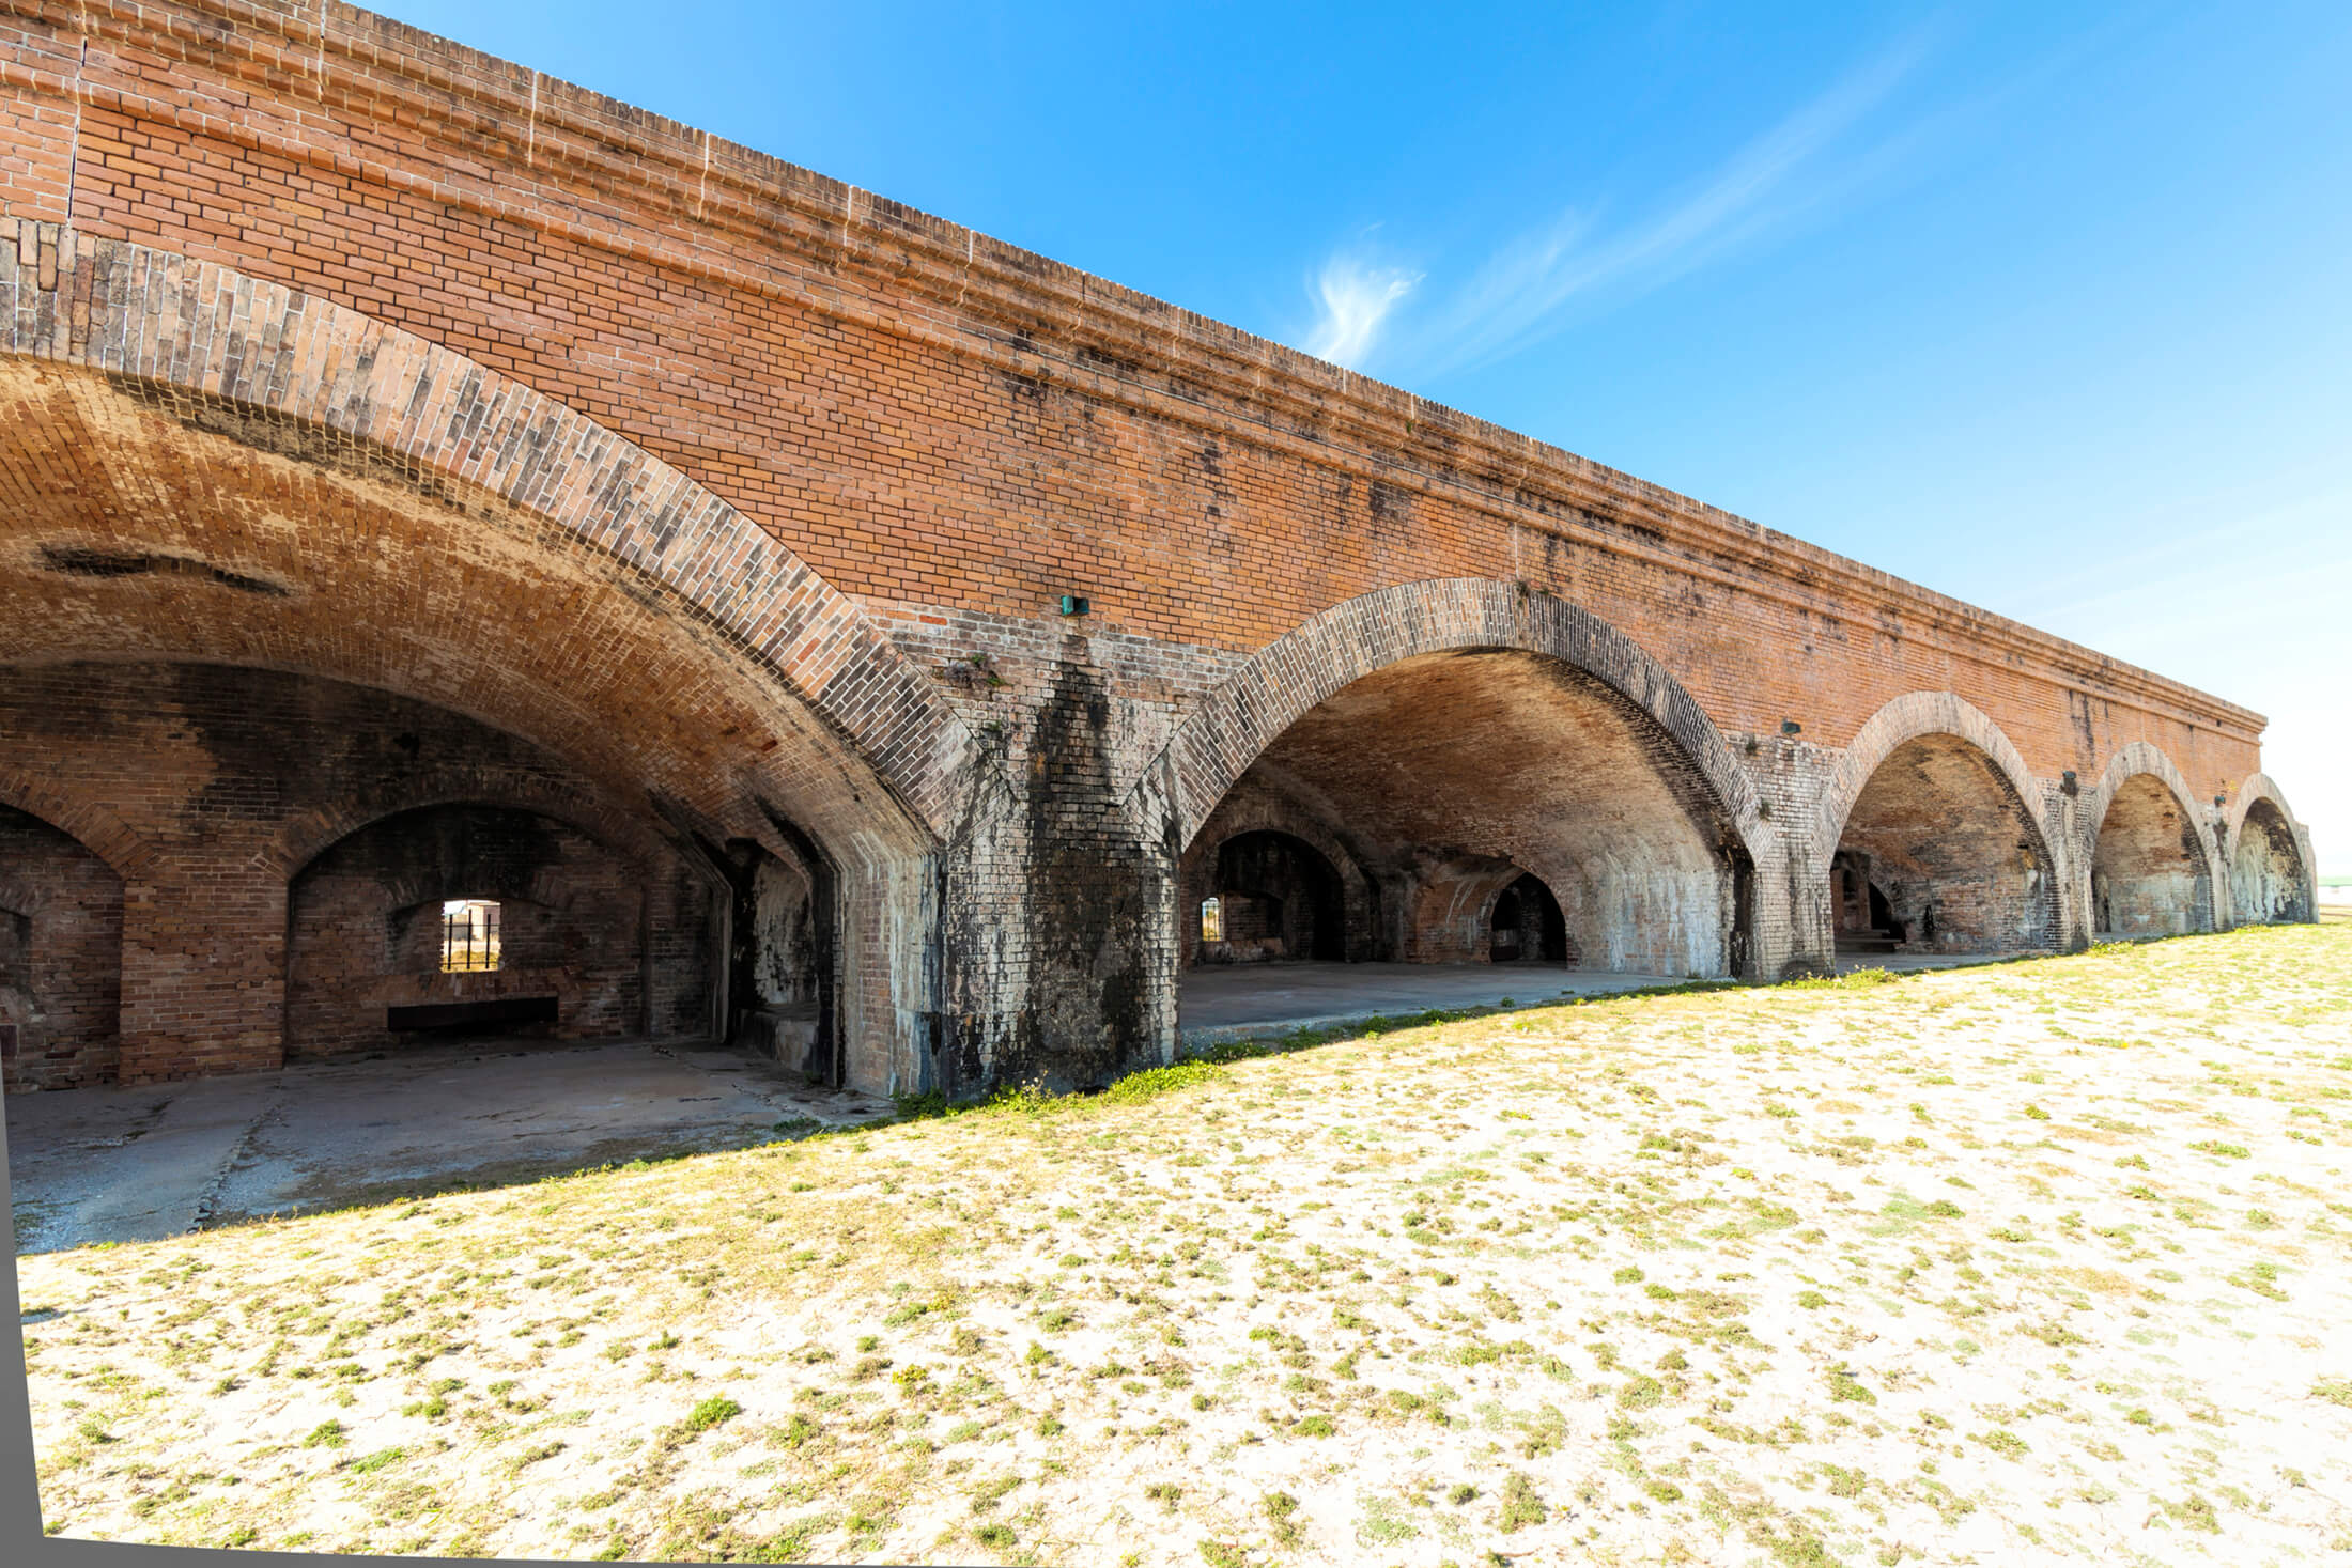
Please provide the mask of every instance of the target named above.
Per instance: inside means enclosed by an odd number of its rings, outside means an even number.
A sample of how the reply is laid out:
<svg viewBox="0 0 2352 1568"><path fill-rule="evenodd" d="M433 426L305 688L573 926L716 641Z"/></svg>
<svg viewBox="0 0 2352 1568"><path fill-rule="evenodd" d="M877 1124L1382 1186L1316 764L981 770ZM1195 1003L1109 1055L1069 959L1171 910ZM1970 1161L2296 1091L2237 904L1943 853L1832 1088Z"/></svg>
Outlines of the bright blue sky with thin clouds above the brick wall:
<svg viewBox="0 0 2352 1568"><path fill-rule="evenodd" d="M2352 7L388 0L2272 717L2352 872Z"/></svg>

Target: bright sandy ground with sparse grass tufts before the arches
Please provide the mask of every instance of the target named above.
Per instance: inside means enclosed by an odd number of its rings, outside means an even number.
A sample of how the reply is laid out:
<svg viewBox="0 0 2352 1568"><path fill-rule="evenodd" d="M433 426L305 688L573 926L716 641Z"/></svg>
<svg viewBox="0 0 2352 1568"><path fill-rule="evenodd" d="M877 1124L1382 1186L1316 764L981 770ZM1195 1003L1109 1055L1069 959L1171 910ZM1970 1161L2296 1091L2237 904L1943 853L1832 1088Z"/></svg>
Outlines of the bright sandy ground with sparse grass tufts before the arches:
<svg viewBox="0 0 2352 1568"><path fill-rule="evenodd" d="M2352 1549L2352 924L1364 1030L19 1262L45 1528L938 1563Z"/></svg>

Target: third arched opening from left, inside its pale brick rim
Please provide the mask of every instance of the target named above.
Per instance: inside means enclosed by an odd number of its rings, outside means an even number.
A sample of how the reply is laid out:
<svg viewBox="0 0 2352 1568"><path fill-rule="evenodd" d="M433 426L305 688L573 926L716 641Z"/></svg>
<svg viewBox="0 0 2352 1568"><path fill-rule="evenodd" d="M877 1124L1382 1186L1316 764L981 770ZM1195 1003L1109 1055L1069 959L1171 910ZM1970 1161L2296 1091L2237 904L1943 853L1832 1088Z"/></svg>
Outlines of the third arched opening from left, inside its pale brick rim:
<svg viewBox="0 0 2352 1568"><path fill-rule="evenodd" d="M1879 762L1830 870L1844 954L2058 945L2058 877L2042 830L2009 776L1959 736L1915 736Z"/></svg>

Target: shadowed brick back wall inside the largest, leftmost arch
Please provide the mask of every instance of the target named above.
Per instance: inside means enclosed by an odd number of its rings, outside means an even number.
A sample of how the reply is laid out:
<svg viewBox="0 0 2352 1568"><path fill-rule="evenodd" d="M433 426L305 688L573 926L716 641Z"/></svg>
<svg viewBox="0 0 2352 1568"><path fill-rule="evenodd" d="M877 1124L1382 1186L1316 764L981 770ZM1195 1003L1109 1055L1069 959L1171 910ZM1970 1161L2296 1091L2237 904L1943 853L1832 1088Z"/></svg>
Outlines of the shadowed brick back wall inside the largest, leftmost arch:
<svg viewBox="0 0 2352 1568"><path fill-rule="evenodd" d="M534 802L569 818L543 827L550 858L529 875L487 856L496 886L562 912L543 933L546 952L529 924L520 952L541 976L574 971L564 1032L642 1030L647 969L654 1027L708 1032L706 882L619 804L513 736L339 682L94 663L12 670L0 686L0 736L12 762L66 795L103 799L143 851L120 891L99 886L111 875L75 872L89 884L80 891L61 875L31 882L56 919L82 910L94 931L108 931L103 940L120 940L118 964L92 936L71 969L89 987L120 985L125 1081L273 1067L289 1048L383 1044L386 1004L440 999L442 980L426 980L428 933L409 926L402 945L386 917L473 886L447 837L412 832L416 820L447 825L435 806L449 799ZM402 823L402 809L423 818ZM40 827L33 839L73 858L59 849L71 849L64 835ZM320 851L322 870L306 882ZM292 910L292 959L306 983L294 1016L289 882L310 893ZM647 898L668 933L652 966L637 936ZM101 1063L103 1051L92 1046L87 1060Z"/></svg>

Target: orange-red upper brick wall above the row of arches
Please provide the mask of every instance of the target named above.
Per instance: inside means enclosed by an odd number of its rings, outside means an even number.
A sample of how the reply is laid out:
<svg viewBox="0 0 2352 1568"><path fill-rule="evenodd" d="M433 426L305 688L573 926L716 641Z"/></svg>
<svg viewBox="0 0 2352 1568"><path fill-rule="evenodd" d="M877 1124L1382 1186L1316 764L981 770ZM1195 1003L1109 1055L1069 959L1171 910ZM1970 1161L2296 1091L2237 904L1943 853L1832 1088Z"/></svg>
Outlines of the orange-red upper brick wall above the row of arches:
<svg viewBox="0 0 2352 1568"><path fill-rule="evenodd" d="M240 26L172 26L200 14ZM1950 686L2049 771L2138 736L2251 771L2253 717L2201 693L381 16L318 24L28 7L14 96L78 115L73 223L517 376L856 597L1082 590L1103 632L1247 651L1383 583L1529 581L1722 729L1839 743Z"/></svg>

